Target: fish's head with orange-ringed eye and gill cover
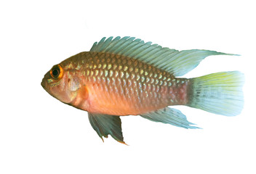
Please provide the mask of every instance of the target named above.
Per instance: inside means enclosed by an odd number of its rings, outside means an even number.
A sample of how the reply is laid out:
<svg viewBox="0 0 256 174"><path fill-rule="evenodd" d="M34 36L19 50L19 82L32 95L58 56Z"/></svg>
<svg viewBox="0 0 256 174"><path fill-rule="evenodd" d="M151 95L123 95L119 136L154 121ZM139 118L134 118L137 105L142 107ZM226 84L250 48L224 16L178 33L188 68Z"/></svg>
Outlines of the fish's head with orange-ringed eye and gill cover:
<svg viewBox="0 0 256 174"><path fill-rule="evenodd" d="M76 99L80 87L79 78L71 74L72 72L65 70L61 64L55 65L44 75L41 86L51 96L69 104Z"/></svg>

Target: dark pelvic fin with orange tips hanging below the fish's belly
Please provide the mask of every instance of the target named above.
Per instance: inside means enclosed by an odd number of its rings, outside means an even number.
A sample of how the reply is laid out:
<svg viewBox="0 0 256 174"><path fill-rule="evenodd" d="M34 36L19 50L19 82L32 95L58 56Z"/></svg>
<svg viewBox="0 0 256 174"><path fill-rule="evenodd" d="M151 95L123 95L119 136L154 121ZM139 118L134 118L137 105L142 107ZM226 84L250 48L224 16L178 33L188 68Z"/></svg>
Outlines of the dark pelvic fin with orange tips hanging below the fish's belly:
<svg viewBox="0 0 256 174"><path fill-rule="evenodd" d="M124 143L123 133L121 132L121 119L115 115L101 115L89 113L89 123L103 140L103 136L108 138L111 135L116 141Z"/></svg>

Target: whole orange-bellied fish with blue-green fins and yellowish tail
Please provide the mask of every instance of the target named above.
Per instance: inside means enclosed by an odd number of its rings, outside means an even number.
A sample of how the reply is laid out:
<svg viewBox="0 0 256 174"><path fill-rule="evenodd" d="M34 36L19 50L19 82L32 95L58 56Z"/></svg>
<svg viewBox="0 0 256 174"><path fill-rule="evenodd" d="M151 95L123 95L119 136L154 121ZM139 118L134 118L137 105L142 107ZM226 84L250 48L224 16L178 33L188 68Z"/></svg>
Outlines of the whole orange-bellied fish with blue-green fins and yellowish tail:
<svg viewBox="0 0 256 174"><path fill-rule="evenodd" d="M178 51L129 36L104 37L90 51L54 65L41 86L63 103L87 111L89 123L102 140L111 135L126 144L121 116L140 115L196 129L179 109L170 106L184 105L225 116L241 113L242 72L181 77L213 55L237 56L204 49Z"/></svg>

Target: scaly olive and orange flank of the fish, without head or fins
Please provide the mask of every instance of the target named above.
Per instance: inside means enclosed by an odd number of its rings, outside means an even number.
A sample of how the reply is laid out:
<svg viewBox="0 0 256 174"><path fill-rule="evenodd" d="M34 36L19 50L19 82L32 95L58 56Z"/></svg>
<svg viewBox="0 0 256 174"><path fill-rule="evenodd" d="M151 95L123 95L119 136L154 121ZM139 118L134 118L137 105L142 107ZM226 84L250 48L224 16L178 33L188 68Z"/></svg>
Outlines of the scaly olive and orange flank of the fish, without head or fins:
<svg viewBox="0 0 256 174"><path fill-rule="evenodd" d="M137 115L149 109L182 104L186 100L179 97L182 88L180 83L185 79L176 80L169 72L137 59L95 52L84 52L77 56L71 57L68 62L79 62L72 65L73 69L84 62L79 70L80 78L84 79L84 85L92 92L90 102L94 105L92 110L84 108L88 111L105 112L107 105L108 114ZM70 66L65 62L62 64ZM100 88L96 89L95 84Z"/></svg>

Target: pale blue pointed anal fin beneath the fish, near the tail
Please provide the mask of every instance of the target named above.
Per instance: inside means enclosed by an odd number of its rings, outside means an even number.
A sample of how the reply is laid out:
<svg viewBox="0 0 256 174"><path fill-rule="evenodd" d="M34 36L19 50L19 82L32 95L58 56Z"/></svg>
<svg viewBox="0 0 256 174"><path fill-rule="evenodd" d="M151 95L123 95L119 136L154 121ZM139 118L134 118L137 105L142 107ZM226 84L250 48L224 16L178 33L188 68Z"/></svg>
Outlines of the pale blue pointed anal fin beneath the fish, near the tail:
<svg viewBox="0 0 256 174"><path fill-rule="evenodd" d="M180 110L169 107L148 112L140 116L154 122L166 123L181 128L197 128L196 126L193 126L193 123L188 122L187 118L180 112Z"/></svg>

